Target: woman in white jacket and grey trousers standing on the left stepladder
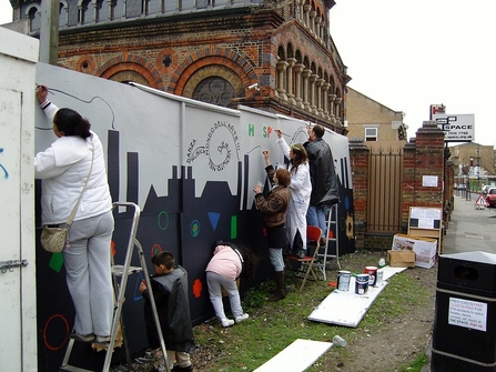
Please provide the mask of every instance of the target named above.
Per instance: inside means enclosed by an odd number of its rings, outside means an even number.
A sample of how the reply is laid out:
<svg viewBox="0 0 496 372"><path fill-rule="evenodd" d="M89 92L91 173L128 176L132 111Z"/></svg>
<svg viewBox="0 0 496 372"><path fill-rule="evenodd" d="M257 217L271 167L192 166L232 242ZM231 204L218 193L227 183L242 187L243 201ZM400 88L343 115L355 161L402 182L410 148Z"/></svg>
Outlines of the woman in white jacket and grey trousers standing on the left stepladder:
<svg viewBox="0 0 496 372"><path fill-rule="evenodd" d="M34 157L36 178L42 180L43 225L65 224L91 169L62 254L75 308L73 338L108 343L113 316L110 260L114 219L103 147L87 119L72 109L59 110L47 100L45 86L38 88L37 97L57 135Z"/></svg>

